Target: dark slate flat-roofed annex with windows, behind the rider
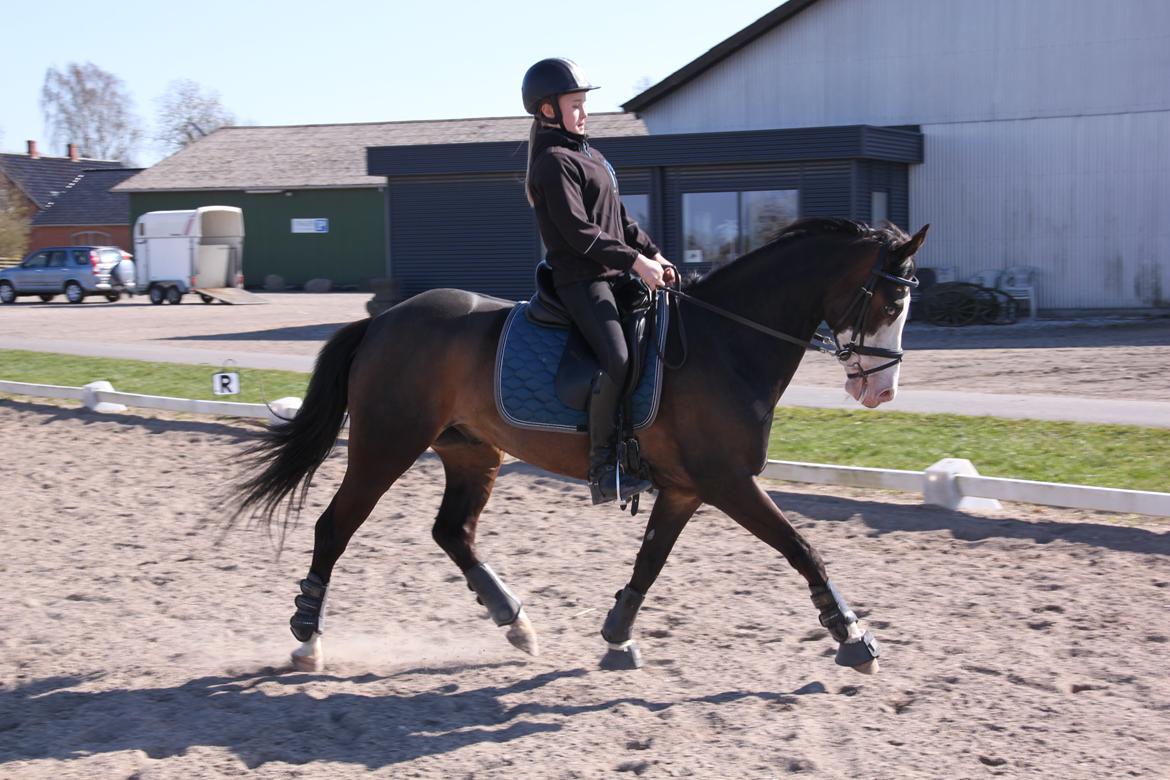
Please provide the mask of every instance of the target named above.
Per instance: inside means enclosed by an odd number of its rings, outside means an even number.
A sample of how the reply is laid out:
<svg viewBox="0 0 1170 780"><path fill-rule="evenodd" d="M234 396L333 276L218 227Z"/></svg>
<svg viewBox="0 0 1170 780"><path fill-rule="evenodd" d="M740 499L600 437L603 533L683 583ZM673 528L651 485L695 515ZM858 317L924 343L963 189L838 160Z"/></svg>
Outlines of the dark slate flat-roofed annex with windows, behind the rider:
<svg viewBox="0 0 1170 780"><path fill-rule="evenodd" d="M879 219L904 223L908 168L922 159L915 129L607 138L597 118L592 144L617 168L626 210L683 271L750 251L798 215L870 219L878 208ZM370 150L370 173L386 177L387 257L402 295L439 287L532 294L542 247L524 195L526 161L526 143L515 141ZM873 201L874 187L889 196Z"/></svg>

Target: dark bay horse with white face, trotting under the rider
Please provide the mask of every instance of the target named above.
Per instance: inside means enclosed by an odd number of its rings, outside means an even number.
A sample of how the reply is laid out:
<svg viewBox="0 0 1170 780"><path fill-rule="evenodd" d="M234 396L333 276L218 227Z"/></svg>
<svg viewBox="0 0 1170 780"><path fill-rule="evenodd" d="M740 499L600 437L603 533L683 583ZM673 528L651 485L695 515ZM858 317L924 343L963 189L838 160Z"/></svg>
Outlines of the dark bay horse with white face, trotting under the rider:
<svg viewBox="0 0 1170 780"><path fill-rule="evenodd" d="M928 226L929 227L929 226ZM914 254L925 237L896 227L806 219L771 243L684 285L691 299L672 320L686 361L663 377L658 417L639 433L658 497L634 564L601 634L639 665L633 623L642 599L701 504L725 512L778 550L808 584L820 623L839 643L837 662L863 672L878 647L830 582L813 546L756 482L768 457L772 412L824 320L846 370L847 392L875 407L894 398ZM706 304L706 305L704 305ZM428 448L447 485L432 536L459 566L497 626L536 654L536 631L521 601L475 551L476 524L504 453L584 479L580 434L521 429L496 410L496 346L512 302L461 290L432 290L352 323L322 348L304 406L261 434L247 457L260 468L239 486L240 512L287 522L350 415L349 463L317 520L312 562L301 581L292 633L300 669L323 668L324 601L333 566L378 499ZM713 311L711 306L723 311ZM730 316L729 316L730 315ZM746 323L794 337L776 338Z"/></svg>

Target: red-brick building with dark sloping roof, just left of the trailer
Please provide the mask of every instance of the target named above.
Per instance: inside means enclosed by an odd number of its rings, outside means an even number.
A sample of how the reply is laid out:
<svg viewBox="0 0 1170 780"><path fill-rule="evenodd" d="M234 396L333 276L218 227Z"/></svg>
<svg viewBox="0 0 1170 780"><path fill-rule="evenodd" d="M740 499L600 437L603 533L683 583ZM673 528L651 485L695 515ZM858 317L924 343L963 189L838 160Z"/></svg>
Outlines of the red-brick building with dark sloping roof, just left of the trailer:
<svg viewBox="0 0 1170 780"><path fill-rule="evenodd" d="M128 222L130 198L110 189L140 171L142 168L82 171L49 208L33 218L29 248L88 243L133 251Z"/></svg>

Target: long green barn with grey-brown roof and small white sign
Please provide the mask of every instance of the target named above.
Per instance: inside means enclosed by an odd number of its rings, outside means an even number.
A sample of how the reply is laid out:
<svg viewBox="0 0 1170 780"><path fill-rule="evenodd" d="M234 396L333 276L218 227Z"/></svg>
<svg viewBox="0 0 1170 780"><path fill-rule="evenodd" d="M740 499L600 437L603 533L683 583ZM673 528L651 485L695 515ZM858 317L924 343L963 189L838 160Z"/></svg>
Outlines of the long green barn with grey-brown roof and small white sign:
<svg viewBox="0 0 1170 780"><path fill-rule="evenodd" d="M646 132L624 113L598 122L610 134ZM130 223L151 210L243 209L249 287L276 274L291 284L324 277L364 288L387 275L390 240L386 179L367 173L366 147L496 143L516 149L528 127L524 117L222 127L113 191L129 195ZM436 203L439 232L477 229L481 206Z"/></svg>

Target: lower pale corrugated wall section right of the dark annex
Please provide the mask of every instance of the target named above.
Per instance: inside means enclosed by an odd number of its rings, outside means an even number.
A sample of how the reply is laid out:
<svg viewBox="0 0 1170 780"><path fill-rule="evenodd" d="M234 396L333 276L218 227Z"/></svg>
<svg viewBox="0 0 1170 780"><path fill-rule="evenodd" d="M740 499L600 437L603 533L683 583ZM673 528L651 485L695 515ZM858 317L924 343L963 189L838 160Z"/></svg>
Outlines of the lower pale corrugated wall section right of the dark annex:
<svg viewBox="0 0 1170 780"><path fill-rule="evenodd" d="M1170 111L923 127L920 261L1034 265L1041 309L1170 305Z"/></svg>

